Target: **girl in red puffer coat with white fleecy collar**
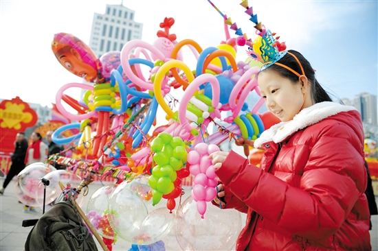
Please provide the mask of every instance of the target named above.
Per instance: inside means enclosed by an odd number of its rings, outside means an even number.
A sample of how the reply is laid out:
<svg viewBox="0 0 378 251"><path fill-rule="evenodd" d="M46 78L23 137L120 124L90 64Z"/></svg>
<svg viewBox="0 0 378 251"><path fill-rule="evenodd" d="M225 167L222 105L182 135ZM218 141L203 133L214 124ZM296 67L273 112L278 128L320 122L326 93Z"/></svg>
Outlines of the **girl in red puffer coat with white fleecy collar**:
<svg viewBox="0 0 378 251"><path fill-rule="evenodd" d="M260 168L235 152L209 156L221 180L213 204L247 213L236 250L371 250L359 112L332 102L297 51L260 71L258 86L282 121L254 142Z"/></svg>

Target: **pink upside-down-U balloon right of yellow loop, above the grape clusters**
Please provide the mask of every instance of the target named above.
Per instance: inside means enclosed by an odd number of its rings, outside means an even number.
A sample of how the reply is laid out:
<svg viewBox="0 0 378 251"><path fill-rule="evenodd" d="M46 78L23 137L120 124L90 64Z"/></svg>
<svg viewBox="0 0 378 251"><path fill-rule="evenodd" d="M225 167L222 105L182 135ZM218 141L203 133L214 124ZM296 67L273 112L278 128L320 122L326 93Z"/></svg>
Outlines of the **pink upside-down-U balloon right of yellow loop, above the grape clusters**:
<svg viewBox="0 0 378 251"><path fill-rule="evenodd" d="M196 79L188 85L188 88L186 88L183 97L181 97L179 106L179 121L181 125L185 125L184 128L187 132L190 132L192 128L190 128L190 123L186 123L186 107L188 106L188 102L194 92L198 90L199 86L206 82L209 82L212 86L212 107L216 108L219 105L219 95L221 91L219 88L219 82L216 77L209 73L205 73L196 77Z"/></svg>

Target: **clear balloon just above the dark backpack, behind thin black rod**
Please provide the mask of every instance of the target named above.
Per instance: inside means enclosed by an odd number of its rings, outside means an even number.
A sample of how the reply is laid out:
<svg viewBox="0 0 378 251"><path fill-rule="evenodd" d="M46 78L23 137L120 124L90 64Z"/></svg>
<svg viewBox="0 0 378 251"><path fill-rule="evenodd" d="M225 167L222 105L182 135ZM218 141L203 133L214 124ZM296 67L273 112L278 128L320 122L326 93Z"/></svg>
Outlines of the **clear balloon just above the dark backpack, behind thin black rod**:
<svg viewBox="0 0 378 251"><path fill-rule="evenodd" d="M62 182L64 186L67 186L67 183L71 184L71 187L78 187L81 182L80 176L74 174L72 171L68 170L56 170L51 171L45 176L43 176L46 180L49 180L49 185L46 186L46 198L45 198L45 205L54 204L54 202L58 199L59 195L62 194L62 189L60 188L59 181ZM38 187L35 191L35 198L38 206L43 207L43 191L44 184L41 180L38 182ZM78 195L76 198L76 203L79 206L82 205L84 202L84 196L82 193Z"/></svg>

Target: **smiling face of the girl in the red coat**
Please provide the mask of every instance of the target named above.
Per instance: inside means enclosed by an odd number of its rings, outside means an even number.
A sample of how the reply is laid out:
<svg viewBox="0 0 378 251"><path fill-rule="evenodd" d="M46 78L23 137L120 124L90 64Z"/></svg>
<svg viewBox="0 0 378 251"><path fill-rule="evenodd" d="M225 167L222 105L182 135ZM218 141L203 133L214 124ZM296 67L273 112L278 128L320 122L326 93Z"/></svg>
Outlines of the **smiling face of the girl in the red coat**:
<svg viewBox="0 0 378 251"><path fill-rule="evenodd" d="M275 71L260 72L258 87L268 110L283 122L293 119L304 104L306 88L303 90L302 83L293 84Z"/></svg>

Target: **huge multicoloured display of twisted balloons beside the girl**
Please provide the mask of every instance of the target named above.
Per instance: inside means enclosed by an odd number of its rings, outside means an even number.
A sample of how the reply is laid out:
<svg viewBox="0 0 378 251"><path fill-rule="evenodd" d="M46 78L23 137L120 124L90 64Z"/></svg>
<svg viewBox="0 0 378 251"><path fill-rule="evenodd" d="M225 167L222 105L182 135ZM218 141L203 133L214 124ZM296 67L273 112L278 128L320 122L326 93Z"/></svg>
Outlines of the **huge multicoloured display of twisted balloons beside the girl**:
<svg viewBox="0 0 378 251"><path fill-rule="evenodd" d="M246 13L251 15L249 12ZM260 96L256 75L262 64L251 58L264 56L256 51L265 40L259 38L252 43L236 24L230 24L227 16L223 18L226 40L205 49L194 40L177 40L170 33L175 24L173 18L165 18L159 24L164 30L157 32L153 43L131 40L122 51L110 51L101 58L96 58L76 36L65 33L54 36L52 51L57 60L90 84L70 83L59 88L56 108L72 123L58 128L52 139L69 145L74 154L71 158L56 154L50 156L49 162L81 173L78 193L95 177L118 180L117 185L96 192L87 208L89 224L102 235L109 250L116 237L146 247L167 235L174 225L176 199L181 205L184 193L181 182L190 175L194 176L191 192L194 202L188 201L186 205L192 208L195 203L201 220L205 221L207 205L216 197L218 184L209 154L219 151L219 145L226 140L243 137L254 141L278 122L270 112L258 113L263 97L250 109L246 104L249 93ZM227 25L231 25L238 38L230 38ZM260 28L261 34L267 32L265 27ZM251 58L236 62L236 45L245 44L253 45L254 50L249 51ZM277 43L280 47L282 44ZM195 69L184 61L184 46L197 59ZM141 64L150 68L148 73L142 72ZM173 93L181 86L184 95L175 99ZM80 100L64 93L72 87L86 90ZM61 100L77 114L67 112ZM156 117L158 109L166 112L166 122ZM229 114L226 117L225 111ZM157 121L163 125L157 126ZM219 121L227 125L220 125ZM209 134L210 125L218 130ZM63 132L72 129L80 132L63 136ZM245 153L248 155L249 150ZM166 202L168 215L164 208L164 213L162 209L153 209L161 200ZM99 204L100 201L107 203ZM185 212L181 208L180 217ZM209 218L212 219L210 215ZM161 219L161 225L153 228L151 224L157 219ZM185 242L186 238L177 239ZM188 248L185 243L180 246Z"/></svg>

